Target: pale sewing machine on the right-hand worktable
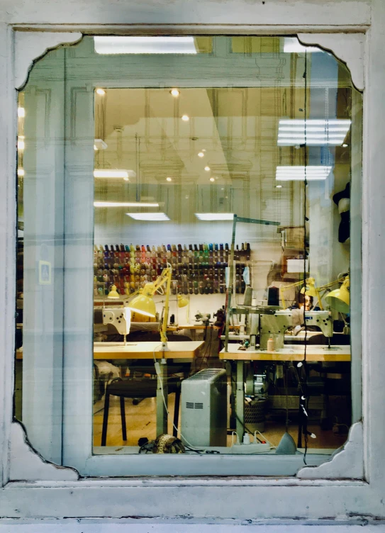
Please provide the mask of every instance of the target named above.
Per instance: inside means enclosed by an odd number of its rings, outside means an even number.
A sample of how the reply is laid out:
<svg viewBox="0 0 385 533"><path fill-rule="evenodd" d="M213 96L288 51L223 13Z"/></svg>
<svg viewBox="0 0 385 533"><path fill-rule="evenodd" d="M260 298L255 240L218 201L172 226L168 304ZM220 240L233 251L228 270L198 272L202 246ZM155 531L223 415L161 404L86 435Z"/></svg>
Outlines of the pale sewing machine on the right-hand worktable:
<svg viewBox="0 0 385 533"><path fill-rule="evenodd" d="M284 347L284 335L288 327L293 327L293 312L288 309L278 310L275 313L270 314L260 314L259 320L254 320L252 322L252 327L250 328L250 348L252 348L252 336L257 335L257 330L260 332L260 349L267 349L267 341L270 337L275 339L275 349L280 349ZM298 310L299 321L303 323L303 319L299 316L301 310ZM306 311L305 312L306 326L318 326L323 332L325 337L333 337L333 320L330 311ZM259 326L257 323L259 322Z"/></svg>

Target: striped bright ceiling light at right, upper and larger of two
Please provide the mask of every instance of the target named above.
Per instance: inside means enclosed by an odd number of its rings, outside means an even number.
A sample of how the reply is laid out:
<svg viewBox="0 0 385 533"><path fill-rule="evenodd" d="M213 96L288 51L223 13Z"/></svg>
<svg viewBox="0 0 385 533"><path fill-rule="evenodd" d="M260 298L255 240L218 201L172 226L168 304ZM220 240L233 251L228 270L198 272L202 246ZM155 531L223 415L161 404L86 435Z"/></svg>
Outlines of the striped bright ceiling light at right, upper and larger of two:
<svg viewBox="0 0 385 533"><path fill-rule="evenodd" d="M330 118L325 120L312 119L281 119L278 128L278 145L342 145L351 120Z"/></svg>

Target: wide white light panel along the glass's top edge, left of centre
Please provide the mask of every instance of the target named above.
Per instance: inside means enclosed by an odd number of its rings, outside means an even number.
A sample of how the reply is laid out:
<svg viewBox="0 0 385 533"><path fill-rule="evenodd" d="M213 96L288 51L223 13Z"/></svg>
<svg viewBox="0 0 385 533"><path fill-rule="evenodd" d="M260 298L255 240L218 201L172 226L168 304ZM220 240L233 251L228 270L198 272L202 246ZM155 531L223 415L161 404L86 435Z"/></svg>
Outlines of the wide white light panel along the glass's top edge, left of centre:
<svg viewBox="0 0 385 533"><path fill-rule="evenodd" d="M94 37L96 54L196 54L194 37Z"/></svg>

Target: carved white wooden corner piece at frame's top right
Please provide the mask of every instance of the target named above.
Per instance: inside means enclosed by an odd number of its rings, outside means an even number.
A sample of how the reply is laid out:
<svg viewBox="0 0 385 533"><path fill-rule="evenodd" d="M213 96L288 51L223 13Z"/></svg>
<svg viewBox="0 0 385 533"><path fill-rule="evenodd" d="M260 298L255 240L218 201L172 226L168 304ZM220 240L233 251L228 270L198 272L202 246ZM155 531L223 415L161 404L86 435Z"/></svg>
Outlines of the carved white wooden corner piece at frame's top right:
<svg viewBox="0 0 385 533"><path fill-rule="evenodd" d="M364 34L298 33L298 39L304 45L319 45L333 52L335 57L347 64L357 89L364 90Z"/></svg>

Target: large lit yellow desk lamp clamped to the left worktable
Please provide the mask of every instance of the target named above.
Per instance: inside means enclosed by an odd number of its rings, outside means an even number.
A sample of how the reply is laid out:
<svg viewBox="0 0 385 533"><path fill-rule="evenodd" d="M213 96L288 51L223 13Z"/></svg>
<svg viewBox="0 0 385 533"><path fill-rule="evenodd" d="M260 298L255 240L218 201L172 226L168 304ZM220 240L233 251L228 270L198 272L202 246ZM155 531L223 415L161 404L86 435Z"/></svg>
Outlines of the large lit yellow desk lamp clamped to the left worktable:
<svg viewBox="0 0 385 533"><path fill-rule="evenodd" d="M171 276L172 276L172 267L171 264L167 263L167 267L162 270L157 281L154 283L145 284L143 289L141 289L138 296L135 296L130 302L128 302L127 307L130 308L134 313L139 313L141 315L155 317L157 314L155 308L155 301L152 296L159 291L159 289L165 285L164 295L166 300L164 301L164 311L162 318L162 327L160 329L160 339L162 340L162 349L167 349L167 322L169 320L169 293L171 289ZM179 298L181 296L182 298ZM187 305L188 301L186 298L183 298L182 295L178 295L178 307L184 307Z"/></svg>

